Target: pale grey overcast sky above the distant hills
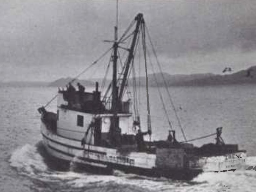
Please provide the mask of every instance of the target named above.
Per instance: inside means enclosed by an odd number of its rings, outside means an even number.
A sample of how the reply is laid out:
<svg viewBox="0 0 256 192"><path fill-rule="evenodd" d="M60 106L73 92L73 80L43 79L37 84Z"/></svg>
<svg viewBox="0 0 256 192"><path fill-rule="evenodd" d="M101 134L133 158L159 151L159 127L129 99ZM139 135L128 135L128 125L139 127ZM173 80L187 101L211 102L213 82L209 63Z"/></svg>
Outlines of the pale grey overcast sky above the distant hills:
<svg viewBox="0 0 256 192"><path fill-rule="evenodd" d="M0 82L74 77L111 44L115 0L1 0ZM143 13L169 74L256 65L254 0L119 0L119 36ZM102 77L108 57L81 78ZM94 76L93 76L94 75Z"/></svg>

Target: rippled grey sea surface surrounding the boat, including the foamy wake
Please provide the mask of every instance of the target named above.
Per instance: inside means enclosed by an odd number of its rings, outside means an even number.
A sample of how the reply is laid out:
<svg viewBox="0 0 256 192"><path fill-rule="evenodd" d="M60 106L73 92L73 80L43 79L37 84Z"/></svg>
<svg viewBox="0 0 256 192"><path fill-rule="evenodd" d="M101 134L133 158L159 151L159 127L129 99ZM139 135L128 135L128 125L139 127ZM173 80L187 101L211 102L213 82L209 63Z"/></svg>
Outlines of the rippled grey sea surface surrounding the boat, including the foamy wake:
<svg viewBox="0 0 256 192"><path fill-rule="evenodd" d="M87 90L89 88L86 88ZM140 113L146 131L146 97L140 88ZM192 181L176 181L125 174L79 172L74 164L66 170L47 163L41 143L37 108L47 103L57 89L51 87L0 87L0 191L1 192L218 192L256 191L256 171L205 172ZM179 141L184 137L166 92L164 105ZM256 166L256 85L170 87L175 110L187 139L212 134L223 127L225 143L247 150L246 166ZM169 125L156 87L150 89L153 140L166 139ZM56 110L56 102L49 110ZM145 138L147 139L147 138ZM192 142L212 142L214 136ZM246 168L246 167L245 167Z"/></svg>

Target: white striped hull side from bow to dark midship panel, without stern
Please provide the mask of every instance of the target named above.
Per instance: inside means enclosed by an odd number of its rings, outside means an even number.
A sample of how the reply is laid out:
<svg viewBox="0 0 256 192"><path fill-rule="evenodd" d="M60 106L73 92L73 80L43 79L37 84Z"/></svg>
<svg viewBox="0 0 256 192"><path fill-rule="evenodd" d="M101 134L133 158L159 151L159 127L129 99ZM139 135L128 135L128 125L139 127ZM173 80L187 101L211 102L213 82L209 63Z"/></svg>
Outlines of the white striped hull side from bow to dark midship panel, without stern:
<svg viewBox="0 0 256 192"><path fill-rule="evenodd" d="M127 167L152 169L155 165L155 154L129 153L124 155L116 149L81 145L81 141L64 138L49 131L44 124L41 126L43 143L52 156L82 164L107 167L110 164L119 164ZM134 161L136 159L136 161Z"/></svg>

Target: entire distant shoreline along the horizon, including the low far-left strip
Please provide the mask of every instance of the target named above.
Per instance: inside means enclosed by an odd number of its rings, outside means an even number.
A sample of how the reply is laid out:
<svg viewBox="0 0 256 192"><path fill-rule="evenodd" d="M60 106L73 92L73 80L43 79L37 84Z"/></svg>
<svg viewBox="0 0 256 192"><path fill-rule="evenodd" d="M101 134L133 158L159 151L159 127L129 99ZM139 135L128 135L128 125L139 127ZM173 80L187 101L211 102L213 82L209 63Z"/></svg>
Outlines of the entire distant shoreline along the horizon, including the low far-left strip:
<svg viewBox="0 0 256 192"><path fill-rule="evenodd" d="M164 80L163 78L164 77ZM53 82L0 82L0 86L49 86L49 87L65 87L69 82L73 81L73 78L60 78ZM90 79L90 80L75 80L83 84L84 86L95 86L95 82L102 83L103 79ZM106 79L105 85L111 83L111 80ZM132 86L132 82L128 83ZM146 86L146 78L143 76L136 77L136 84L140 86ZM155 73L148 75L148 84L150 87L163 87L167 85L171 86L217 86L217 85L235 85L235 84L256 84L256 66L252 66L246 70L241 70L232 74L175 74L171 75L168 73Z"/></svg>

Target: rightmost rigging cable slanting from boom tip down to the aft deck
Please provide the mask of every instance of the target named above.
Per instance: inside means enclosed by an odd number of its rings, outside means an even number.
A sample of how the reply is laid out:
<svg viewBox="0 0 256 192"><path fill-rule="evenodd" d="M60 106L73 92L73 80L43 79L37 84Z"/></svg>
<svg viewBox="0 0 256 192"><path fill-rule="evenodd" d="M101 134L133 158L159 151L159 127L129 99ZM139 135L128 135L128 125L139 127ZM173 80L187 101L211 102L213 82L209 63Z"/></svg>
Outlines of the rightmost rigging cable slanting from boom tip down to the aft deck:
<svg viewBox="0 0 256 192"><path fill-rule="evenodd" d="M157 55L156 55L156 51L155 51L155 48L154 48L154 46L153 46L152 40L151 40L151 38L150 38L148 28L147 28L146 25L145 25L145 27L146 27L147 35L148 35L148 37L149 37L150 44L151 44L151 46L152 46L153 54L154 54L154 56L155 56L155 58L156 58L157 65L158 65L158 67L159 67L159 70L160 70L160 73L161 73L161 76L162 76L162 79L163 79L163 82L164 82L164 85L165 85L166 92L168 93L168 96L169 96L169 99L170 99L170 102L171 102L171 105L172 105L172 108L173 108L173 111L174 111L174 114L175 114L175 116L176 116L176 118L177 118L179 127L181 128L182 135L183 135L185 141L187 141L186 136L185 136L185 133L184 133L184 131L183 131L183 129L182 129L182 126L181 126L180 118L178 117L178 114L177 114L177 111L176 111L176 109L175 109L175 106L174 106L174 103L173 103L171 94L170 94L170 92L169 92L167 83L166 83L165 78L164 78L164 76L163 76L162 68L161 68L161 65L160 65L160 63L159 63L158 57L157 57Z"/></svg>

